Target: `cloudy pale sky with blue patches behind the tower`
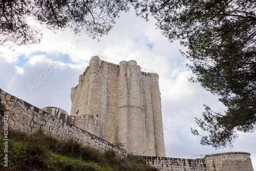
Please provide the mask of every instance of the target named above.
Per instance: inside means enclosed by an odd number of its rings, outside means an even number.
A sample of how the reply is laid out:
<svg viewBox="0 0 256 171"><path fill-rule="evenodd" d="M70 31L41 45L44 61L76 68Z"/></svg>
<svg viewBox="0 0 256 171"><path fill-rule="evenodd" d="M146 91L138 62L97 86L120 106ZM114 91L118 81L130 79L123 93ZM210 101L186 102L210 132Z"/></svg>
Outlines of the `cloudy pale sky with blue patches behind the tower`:
<svg viewBox="0 0 256 171"><path fill-rule="evenodd" d="M179 41L169 42L155 23L154 18L146 22L130 10L121 13L99 42L70 30L54 33L43 29L40 44L18 46L14 51L0 47L0 88L37 108L55 106L70 113L71 88L78 84L92 56L117 64L134 59L142 71L159 74L166 157L195 159L214 153L248 152L255 170L255 132L239 133L233 148L220 149L201 145L191 134L191 127L199 129L195 117L202 118L203 104L222 113L226 107L218 96L188 81L193 76L186 67L189 60L179 52L186 49Z"/></svg>

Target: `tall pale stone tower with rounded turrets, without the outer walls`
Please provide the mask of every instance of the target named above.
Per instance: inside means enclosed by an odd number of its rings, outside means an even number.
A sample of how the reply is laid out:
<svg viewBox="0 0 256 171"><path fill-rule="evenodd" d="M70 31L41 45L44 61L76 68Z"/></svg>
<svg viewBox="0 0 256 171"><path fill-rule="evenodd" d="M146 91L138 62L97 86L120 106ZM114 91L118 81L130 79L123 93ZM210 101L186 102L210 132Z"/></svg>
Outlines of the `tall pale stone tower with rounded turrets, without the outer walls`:
<svg viewBox="0 0 256 171"><path fill-rule="evenodd" d="M93 56L71 90L74 124L140 156L165 156L158 74Z"/></svg>

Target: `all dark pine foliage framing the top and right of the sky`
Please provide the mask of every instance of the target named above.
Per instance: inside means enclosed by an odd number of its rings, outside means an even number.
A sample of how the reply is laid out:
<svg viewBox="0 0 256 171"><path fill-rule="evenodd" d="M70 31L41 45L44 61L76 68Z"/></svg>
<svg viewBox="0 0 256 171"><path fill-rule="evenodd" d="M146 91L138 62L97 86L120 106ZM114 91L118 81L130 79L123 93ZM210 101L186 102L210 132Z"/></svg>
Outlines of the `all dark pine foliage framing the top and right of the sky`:
<svg viewBox="0 0 256 171"><path fill-rule="evenodd" d="M205 106L203 120L196 119L209 135L201 143L215 147L232 145L237 131L251 132L256 124L256 1L254 0L4 0L0 2L1 44L33 44L40 30L71 28L92 38L106 34L120 11L133 6L146 20L153 15L157 27L170 41L180 39L183 52L200 82L219 95L227 106L224 114Z"/></svg>

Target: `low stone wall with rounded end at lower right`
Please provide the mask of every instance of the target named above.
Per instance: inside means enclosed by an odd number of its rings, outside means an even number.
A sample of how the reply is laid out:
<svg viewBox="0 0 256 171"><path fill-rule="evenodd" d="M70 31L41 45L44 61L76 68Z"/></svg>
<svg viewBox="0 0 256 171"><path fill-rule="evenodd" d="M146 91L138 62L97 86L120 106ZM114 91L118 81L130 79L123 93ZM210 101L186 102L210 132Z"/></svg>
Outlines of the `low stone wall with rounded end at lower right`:
<svg viewBox="0 0 256 171"><path fill-rule="evenodd" d="M253 171L250 153L228 152L205 155L203 159L143 157L150 165L168 171Z"/></svg>

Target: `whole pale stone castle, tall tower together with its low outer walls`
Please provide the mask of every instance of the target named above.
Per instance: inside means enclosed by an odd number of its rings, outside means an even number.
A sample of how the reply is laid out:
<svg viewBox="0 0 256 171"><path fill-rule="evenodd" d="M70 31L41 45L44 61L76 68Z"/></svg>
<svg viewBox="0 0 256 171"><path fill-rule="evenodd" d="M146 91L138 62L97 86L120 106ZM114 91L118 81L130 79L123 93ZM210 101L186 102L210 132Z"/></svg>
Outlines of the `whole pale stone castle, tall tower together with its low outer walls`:
<svg viewBox="0 0 256 171"><path fill-rule="evenodd" d="M158 74L141 72L135 60L119 65L93 56L71 89L71 115L36 108L0 89L0 126L75 139L104 152L141 156L160 170L253 171L250 154L229 152L200 159L165 157Z"/></svg>

